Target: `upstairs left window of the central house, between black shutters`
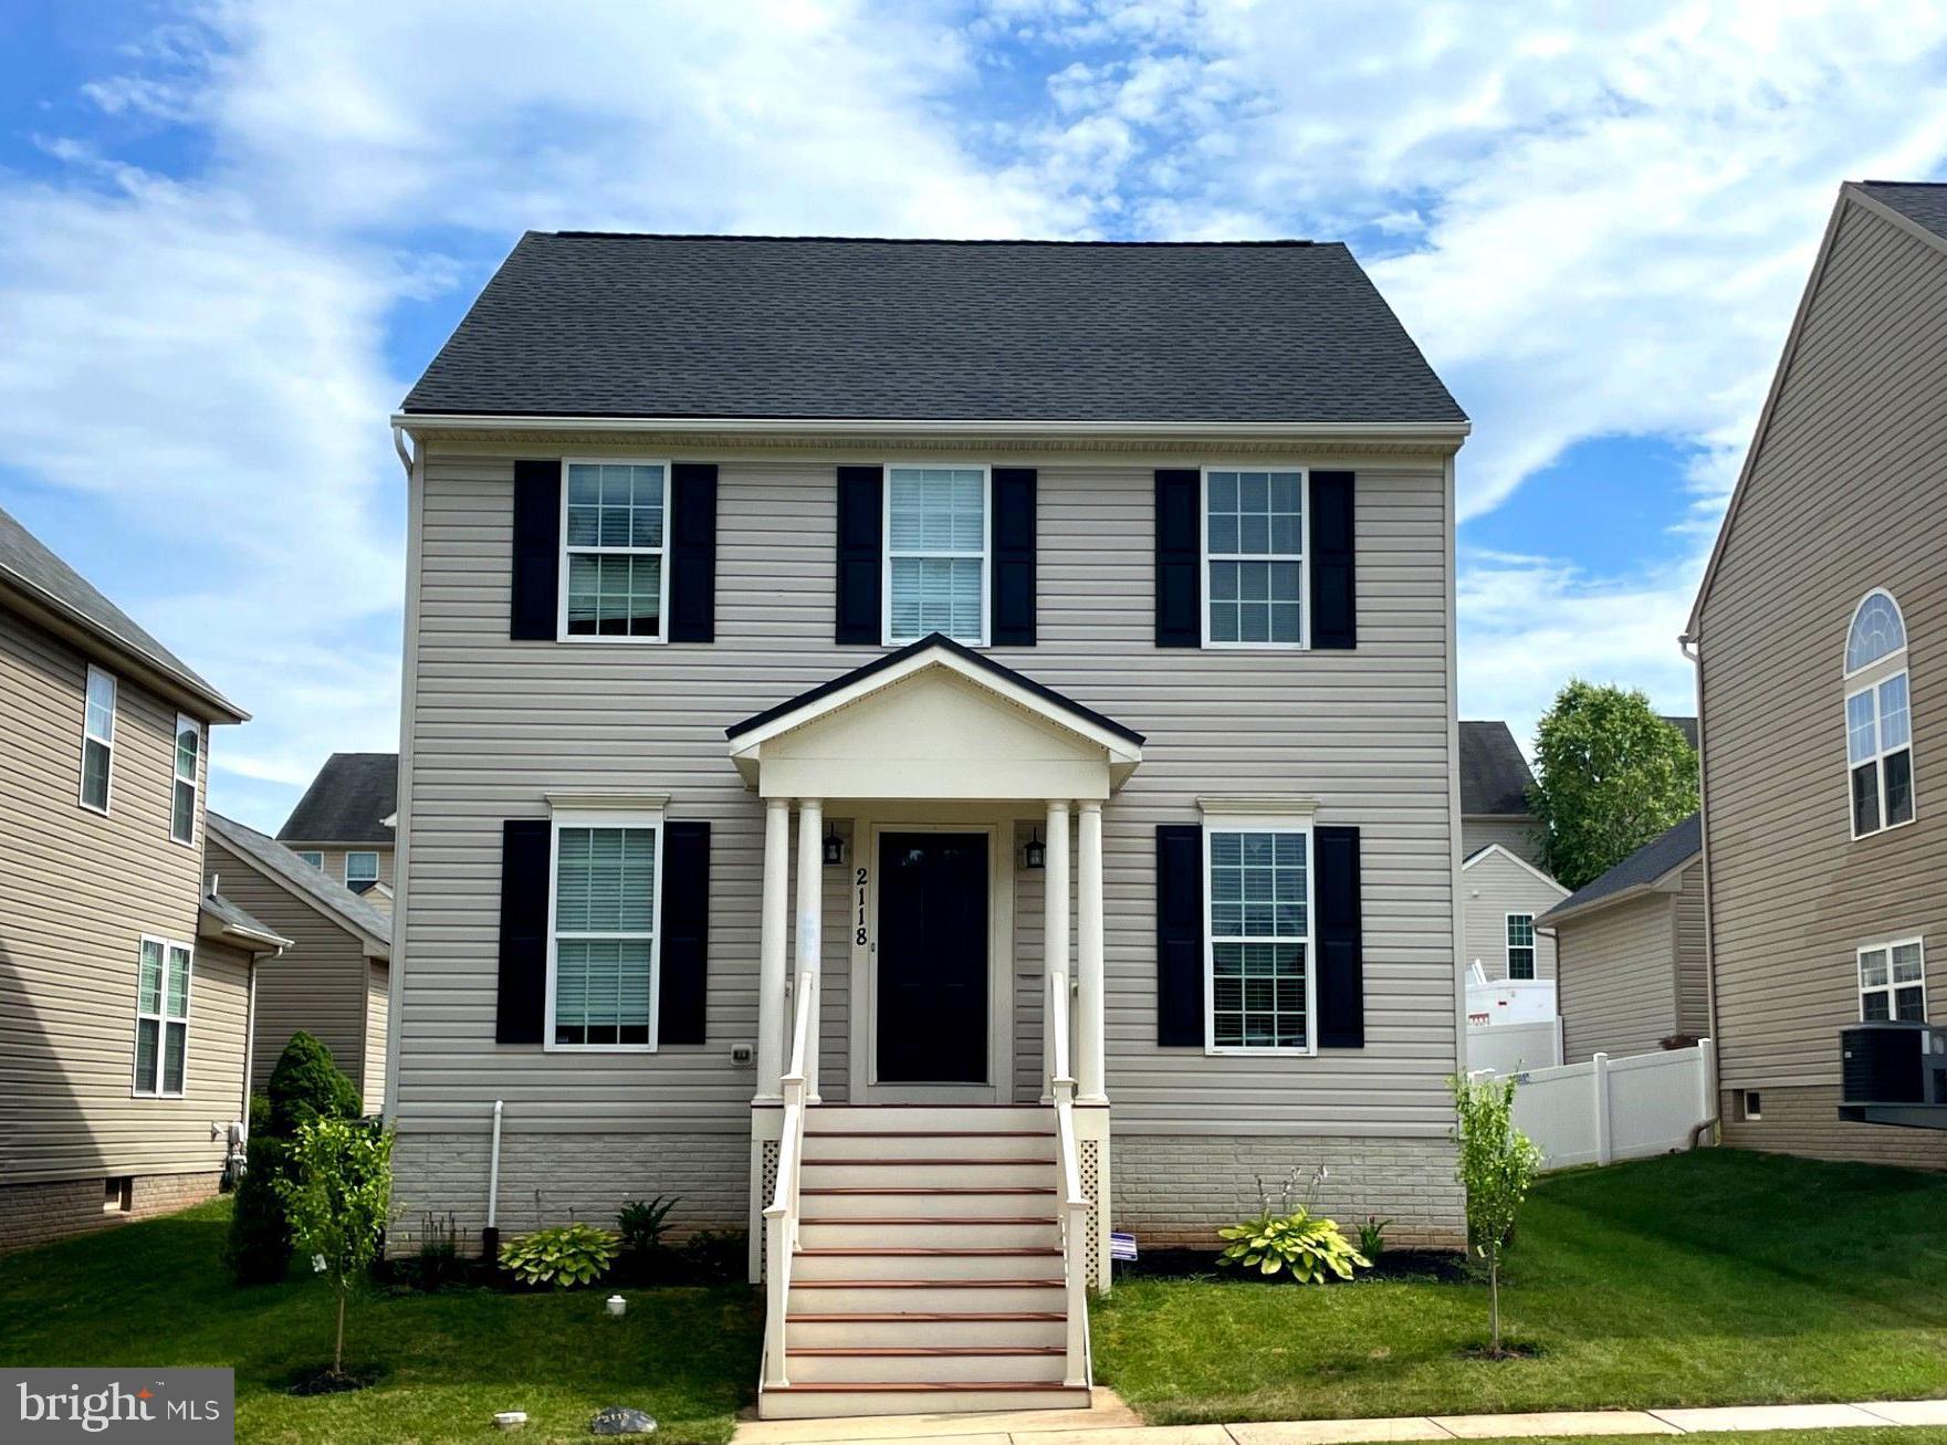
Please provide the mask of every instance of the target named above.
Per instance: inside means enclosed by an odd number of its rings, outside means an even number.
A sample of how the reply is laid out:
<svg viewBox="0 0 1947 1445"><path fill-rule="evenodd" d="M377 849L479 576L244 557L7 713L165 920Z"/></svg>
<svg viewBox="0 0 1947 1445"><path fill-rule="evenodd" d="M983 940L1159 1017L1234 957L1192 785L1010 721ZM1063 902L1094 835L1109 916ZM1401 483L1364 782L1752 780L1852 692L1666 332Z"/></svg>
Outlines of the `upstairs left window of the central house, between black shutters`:
<svg viewBox="0 0 1947 1445"><path fill-rule="evenodd" d="M565 462L561 635L664 641L670 611L666 462Z"/></svg>

